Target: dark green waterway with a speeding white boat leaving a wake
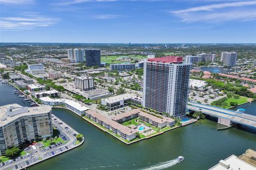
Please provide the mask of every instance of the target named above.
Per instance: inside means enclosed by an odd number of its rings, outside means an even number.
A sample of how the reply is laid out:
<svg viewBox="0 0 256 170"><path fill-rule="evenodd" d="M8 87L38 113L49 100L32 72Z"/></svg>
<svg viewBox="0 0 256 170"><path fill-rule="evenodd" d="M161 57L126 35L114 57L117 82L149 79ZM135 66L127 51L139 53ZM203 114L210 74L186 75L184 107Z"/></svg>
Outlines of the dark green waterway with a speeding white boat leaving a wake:
<svg viewBox="0 0 256 170"><path fill-rule="evenodd" d="M0 85L0 105L20 101L12 86ZM239 106L255 114L256 102ZM252 109L250 109L252 108ZM253 109L254 108L254 109ZM236 109L236 108L234 108ZM246 149L256 150L256 132L241 127L217 131L219 125L212 120L166 132L157 137L125 145L108 133L82 120L65 109L53 109L61 118L85 137L82 146L45 160L28 169L208 169L228 156L242 155ZM243 128L242 128L243 129ZM177 163L178 156L185 159Z"/></svg>

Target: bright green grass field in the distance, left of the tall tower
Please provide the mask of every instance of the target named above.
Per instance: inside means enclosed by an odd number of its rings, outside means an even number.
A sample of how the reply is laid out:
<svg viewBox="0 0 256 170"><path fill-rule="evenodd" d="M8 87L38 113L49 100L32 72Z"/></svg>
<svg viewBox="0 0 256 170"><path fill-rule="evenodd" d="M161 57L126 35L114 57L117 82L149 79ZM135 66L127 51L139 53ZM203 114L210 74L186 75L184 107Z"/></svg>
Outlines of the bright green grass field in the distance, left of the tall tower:
<svg viewBox="0 0 256 170"><path fill-rule="evenodd" d="M121 58L123 56L128 56L130 58L133 58L134 60L136 59L143 59L143 58L147 58L147 56L143 56L143 55L108 55L108 56L101 56L101 62L106 62L106 63L110 63L110 64L118 64L118 63L127 63L127 62L123 62L123 61L116 61L117 58Z"/></svg>

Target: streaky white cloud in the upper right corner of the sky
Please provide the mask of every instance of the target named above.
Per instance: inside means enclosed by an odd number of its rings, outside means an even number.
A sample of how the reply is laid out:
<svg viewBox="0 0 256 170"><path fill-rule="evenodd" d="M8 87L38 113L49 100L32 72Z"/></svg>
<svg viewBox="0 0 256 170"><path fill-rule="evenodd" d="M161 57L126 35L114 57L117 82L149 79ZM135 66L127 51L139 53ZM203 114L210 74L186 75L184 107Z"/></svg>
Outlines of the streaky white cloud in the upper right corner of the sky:
<svg viewBox="0 0 256 170"><path fill-rule="evenodd" d="M232 20L255 20L256 1L211 4L171 11L183 22L219 22ZM249 7L244 7L249 6Z"/></svg>

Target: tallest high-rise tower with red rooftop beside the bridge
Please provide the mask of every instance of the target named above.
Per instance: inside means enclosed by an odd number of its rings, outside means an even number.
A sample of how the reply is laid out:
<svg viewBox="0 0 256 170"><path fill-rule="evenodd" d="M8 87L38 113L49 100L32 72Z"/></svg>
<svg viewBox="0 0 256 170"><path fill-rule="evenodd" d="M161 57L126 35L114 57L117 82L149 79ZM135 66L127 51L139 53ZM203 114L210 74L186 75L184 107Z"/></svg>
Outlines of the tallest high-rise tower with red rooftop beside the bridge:
<svg viewBox="0 0 256 170"><path fill-rule="evenodd" d="M171 116L187 112L189 57L166 56L148 59L144 64L143 106Z"/></svg>

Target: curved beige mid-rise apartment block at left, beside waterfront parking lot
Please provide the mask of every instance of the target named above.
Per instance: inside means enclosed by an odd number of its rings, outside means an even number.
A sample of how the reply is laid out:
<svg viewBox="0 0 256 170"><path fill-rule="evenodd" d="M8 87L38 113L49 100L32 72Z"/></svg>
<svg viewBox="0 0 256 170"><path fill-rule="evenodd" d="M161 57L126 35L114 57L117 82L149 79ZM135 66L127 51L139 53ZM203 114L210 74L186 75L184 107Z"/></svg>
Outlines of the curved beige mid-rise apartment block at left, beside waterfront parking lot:
<svg viewBox="0 0 256 170"><path fill-rule="evenodd" d="M4 105L0 106L0 117L0 156L6 155L7 148L26 141L52 137L50 106Z"/></svg>

